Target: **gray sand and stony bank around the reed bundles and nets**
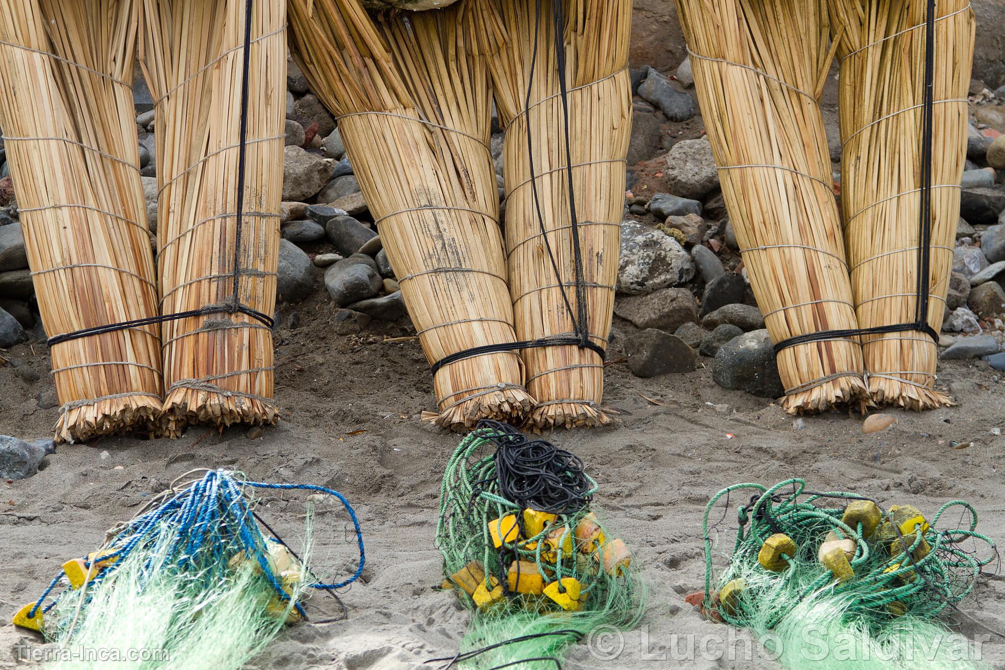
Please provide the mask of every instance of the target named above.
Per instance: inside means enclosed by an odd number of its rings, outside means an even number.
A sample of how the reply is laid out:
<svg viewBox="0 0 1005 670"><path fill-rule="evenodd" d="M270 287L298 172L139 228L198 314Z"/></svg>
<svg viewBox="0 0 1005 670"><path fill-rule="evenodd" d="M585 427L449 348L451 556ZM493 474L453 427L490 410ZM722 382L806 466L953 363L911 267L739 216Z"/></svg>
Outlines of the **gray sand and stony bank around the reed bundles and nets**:
<svg viewBox="0 0 1005 670"><path fill-rule="evenodd" d="M773 370L770 341L737 253L671 5L636 4L634 131L605 398L619 423L554 436L560 443L575 440L601 482L600 502L636 549L653 590L652 608L616 658L601 659L584 645L570 667L599 667L601 660L626 669L648 661L653 667L771 666L757 657L731 659L725 648L726 657L702 659L701 636L727 632L682 600L702 581L705 501L731 483L801 476L888 504L911 496L924 509L962 497L977 505L987 531L1005 529L1005 485L997 470L1005 448L1005 9L975 3L982 20L977 78L940 342L939 384L959 406L923 415L888 412L892 427L863 434L859 416L785 416L772 400L782 393L777 371L758 374ZM0 454L25 454L4 461L5 468L13 464L3 472L11 477L8 499L0 499L0 541L10 548L8 570L0 572L0 614L34 598L58 564L85 552L105 528L175 476L226 466L262 480L338 488L356 504L367 536L364 579L344 596L349 621L295 627L256 666L405 668L456 647L467 615L434 588L440 578L432 538L438 482L457 438L419 422L434 405L432 384L394 272L335 122L292 64L287 83L275 328L282 422L264 432L222 435L196 428L175 442L110 438L60 447L44 461L44 445L25 451L0 442ZM152 101L141 81L136 97L144 186L156 226ZM833 77L823 113L839 183ZM492 148L501 173L501 135L493 136ZM3 164L0 434L32 440L55 422L44 339ZM40 461L47 467L37 475L14 480L18 469L33 471ZM267 503L281 527L297 527L300 497ZM319 523L329 531L323 545L333 574L345 572L353 557L351 544L342 541L345 519L332 510ZM978 593L963 608L968 614L951 622L971 637L999 626L1005 615L1001 578L982 579ZM0 666L13 664L8 650L20 639L20 632L0 628ZM692 647L695 660L675 658L674 644L685 656ZM668 656L647 661L646 650ZM984 651L1005 667L1005 641L992 639Z"/></svg>

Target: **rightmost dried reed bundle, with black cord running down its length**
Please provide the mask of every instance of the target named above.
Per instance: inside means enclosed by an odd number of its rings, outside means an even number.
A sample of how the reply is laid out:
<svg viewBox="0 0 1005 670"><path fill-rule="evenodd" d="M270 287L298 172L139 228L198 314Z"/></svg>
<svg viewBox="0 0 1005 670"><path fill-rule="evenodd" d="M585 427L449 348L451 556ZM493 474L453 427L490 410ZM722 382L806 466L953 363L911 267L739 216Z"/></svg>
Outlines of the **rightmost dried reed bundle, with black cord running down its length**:
<svg viewBox="0 0 1005 670"><path fill-rule="evenodd" d="M841 58L841 197L851 286L863 328L916 320L925 83L926 0L829 0ZM974 13L939 0L935 32L932 237L928 322L942 326L967 154ZM862 338L879 405L944 407L936 343L925 332Z"/></svg>

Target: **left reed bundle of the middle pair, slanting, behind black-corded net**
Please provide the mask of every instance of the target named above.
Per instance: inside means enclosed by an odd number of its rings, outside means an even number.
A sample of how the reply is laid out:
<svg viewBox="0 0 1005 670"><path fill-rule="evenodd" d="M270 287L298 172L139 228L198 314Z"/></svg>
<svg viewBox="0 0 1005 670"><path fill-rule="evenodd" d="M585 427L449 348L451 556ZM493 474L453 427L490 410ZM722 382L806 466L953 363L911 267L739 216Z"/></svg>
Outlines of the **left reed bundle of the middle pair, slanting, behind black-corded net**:
<svg viewBox="0 0 1005 670"><path fill-rule="evenodd" d="M360 0L291 0L290 48L340 118L360 187L430 364L514 343L491 155L486 50L499 27L463 0L385 15ZM443 366L438 415L454 429L521 419L534 400L516 352Z"/></svg>

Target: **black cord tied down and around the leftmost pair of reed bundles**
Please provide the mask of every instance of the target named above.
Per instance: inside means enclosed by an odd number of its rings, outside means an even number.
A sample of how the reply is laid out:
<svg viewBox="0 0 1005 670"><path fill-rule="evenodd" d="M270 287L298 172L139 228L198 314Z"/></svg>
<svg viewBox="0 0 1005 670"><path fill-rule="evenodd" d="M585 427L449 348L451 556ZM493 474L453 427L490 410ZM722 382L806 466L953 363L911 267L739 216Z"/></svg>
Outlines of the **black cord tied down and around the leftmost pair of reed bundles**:
<svg viewBox="0 0 1005 670"><path fill-rule="evenodd" d="M156 325L158 323L166 323L168 321L178 320L180 318L191 318L193 316L206 316L208 314L219 314L219 313L242 313L251 316L252 318L261 321L269 328L274 324L272 317L268 314L263 314L256 309L252 309L246 304L242 303L239 297L239 283L241 275L241 264L240 264L240 252L241 252L241 224L244 216L244 175L247 168L247 124L248 124L248 79L249 79L249 63L251 59L251 5L254 0L247 0L244 7L244 54L243 54L243 71L241 72L241 122L240 122L240 142L238 146L238 158L237 158L237 223L236 231L234 233L234 269L233 269L233 293L231 296L219 303L209 304L198 309L189 309L187 311L181 311L174 314L162 314L160 316L147 316L145 318L136 318L130 321L121 321L119 323L110 323L108 325L95 325L89 328L82 328L80 330L74 330L72 332L64 332L62 334L57 334L49 338L46 344L49 347L53 345L58 345L61 342L69 342L70 340L76 340L78 338L88 338L90 336L103 334L105 332L114 332L116 330L125 330L127 328L143 327L147 325Z"/></svg>

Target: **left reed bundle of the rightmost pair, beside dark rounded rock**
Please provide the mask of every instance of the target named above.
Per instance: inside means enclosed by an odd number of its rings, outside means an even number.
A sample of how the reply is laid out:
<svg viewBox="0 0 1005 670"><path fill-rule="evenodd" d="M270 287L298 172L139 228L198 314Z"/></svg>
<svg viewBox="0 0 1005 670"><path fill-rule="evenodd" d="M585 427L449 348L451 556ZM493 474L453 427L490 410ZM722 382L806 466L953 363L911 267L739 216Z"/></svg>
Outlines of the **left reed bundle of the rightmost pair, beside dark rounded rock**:
<svg viewBox="0 0 1005 670"><path fill-rule="evenodd" d="M825 0L677 0L723 195L772 340L855 329L818 98ZM783 349L790 412L865 396L857 338Z"/></svg>

